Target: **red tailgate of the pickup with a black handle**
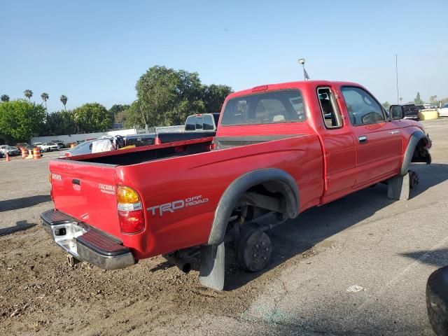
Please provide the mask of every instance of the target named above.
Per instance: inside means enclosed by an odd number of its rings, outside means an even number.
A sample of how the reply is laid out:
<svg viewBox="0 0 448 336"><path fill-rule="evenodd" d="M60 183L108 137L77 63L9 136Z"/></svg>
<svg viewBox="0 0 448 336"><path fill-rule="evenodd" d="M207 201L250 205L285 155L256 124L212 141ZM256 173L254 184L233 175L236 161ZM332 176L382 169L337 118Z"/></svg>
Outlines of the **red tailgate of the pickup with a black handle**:
<svg viewBox="0 0 448 336"><path fill-rule="evenodd" d="M114 165L50 161L55 209L120 237Z"/></svg>

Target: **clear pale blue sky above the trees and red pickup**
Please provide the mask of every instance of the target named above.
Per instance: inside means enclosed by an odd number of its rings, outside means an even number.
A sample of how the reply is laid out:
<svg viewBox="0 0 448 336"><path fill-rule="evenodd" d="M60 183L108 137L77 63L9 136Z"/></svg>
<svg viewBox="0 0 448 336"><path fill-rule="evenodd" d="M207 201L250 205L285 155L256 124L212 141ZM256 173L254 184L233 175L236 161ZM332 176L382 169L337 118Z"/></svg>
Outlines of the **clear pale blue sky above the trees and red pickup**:
<svg viewBox="0 0 448 336"><path fill-rule="evenodd" d="M242 90L351 80L381 101L448 97L448 1L1 1L0 94L49 111L135 99L159 64Z"/></svg>

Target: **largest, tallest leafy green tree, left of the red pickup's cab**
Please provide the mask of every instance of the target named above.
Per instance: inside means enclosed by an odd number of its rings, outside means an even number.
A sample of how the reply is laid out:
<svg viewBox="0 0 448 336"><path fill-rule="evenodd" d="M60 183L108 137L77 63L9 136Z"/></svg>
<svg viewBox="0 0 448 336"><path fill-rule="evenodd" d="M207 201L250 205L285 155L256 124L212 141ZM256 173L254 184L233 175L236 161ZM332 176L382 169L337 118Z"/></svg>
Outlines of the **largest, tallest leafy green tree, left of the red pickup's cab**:
<svg viewBox="0 0 448 336"><path fill-rule="evenodd" d="M192 113L204 113L203 88L197 73L153 66L136 85L137 115L148 126L179 125Z"/></svg>

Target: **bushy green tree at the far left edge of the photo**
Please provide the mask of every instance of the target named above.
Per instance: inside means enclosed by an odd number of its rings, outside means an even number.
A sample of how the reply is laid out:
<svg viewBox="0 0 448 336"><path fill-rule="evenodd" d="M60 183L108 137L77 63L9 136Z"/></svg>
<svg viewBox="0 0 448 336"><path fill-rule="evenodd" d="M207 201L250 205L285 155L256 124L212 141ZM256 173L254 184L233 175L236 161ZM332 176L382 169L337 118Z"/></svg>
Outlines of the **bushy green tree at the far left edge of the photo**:
<svg viewBox="0 0 448 336"><path fill-rule="evenodd" d="M18 141L29 141L43 126L45 109L42 104L25 99L0 104L0 133Z"/></svg>

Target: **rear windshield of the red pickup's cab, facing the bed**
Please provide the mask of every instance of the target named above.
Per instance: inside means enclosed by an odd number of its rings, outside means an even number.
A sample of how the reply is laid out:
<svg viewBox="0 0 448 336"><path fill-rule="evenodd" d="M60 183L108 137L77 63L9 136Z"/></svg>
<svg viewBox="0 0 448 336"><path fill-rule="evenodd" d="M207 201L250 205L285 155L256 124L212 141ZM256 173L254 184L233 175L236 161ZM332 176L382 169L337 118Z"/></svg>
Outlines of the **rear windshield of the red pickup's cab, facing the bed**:
<svg viewBox="0 0 448 336"><path fill-rule="evenodd" d="M272 91L230 99L221 125L291 123L305 120L299 90Z"/></svg>

